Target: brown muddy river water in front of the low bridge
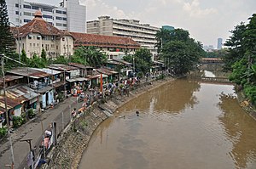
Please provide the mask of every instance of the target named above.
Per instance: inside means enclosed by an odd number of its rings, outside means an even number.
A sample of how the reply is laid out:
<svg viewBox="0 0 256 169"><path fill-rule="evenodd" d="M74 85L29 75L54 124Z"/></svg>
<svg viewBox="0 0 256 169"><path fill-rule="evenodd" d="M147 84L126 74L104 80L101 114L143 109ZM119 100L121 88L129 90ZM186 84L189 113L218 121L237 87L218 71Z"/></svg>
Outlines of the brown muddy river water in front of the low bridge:
<svg viewBox="0 0 256 169"><path fill-rule="evenodd" d="M256 121L232 85L176 80L118 111L96 129L80 168L256 168Z"/></svg>

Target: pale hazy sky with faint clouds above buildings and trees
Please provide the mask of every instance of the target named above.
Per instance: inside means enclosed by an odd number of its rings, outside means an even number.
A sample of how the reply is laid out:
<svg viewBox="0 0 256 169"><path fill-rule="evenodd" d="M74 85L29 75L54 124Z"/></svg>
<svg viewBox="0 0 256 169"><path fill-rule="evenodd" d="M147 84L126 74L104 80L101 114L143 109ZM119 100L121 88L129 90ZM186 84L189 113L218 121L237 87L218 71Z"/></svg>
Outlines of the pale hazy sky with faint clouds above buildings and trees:
<svg viewBox="0 0 256 169"><path fill-rule="evenodd" d="M26 0L56 4L61 0ZM79 0L86 5L87 20L100 15L114 19L136 19L150 25L172 25L189 31L204 45L217 46L235 25L256 13L256 0Z"/></svg>

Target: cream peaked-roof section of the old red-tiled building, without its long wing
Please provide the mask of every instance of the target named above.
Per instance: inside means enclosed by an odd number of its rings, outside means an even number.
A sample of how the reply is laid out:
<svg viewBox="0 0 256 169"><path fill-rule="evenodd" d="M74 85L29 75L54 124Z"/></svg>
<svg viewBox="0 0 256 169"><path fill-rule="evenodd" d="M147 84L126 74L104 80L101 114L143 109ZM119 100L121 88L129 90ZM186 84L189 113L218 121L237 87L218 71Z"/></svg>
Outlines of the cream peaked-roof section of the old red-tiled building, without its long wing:
<svg viewBox="0 0 256 169"><path fill-rule="evenodd" d="M16 39L17 53L19 49L26 51L26 56L40 55L43 48L48 57L73 54L73 36L67 31L60 31L55 26L43 20L43 14L38 10L34 19L26 25L12 27Z"/></svg>

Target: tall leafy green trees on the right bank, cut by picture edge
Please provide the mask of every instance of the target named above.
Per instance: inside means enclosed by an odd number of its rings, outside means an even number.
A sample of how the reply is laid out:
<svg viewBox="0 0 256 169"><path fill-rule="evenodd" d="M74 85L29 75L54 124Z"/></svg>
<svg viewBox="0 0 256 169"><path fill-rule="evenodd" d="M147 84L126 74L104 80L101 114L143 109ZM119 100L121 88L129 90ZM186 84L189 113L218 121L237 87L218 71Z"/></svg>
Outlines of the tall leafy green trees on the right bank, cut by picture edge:
<svg viewBox="0 0 256 169"><path fill-rule="evenodd" d="M224 63L227 70L232 70L230 80L241 85L247 98L256 104L256 14L249 20L247 25L241 23L231 31Z"/></svg>

